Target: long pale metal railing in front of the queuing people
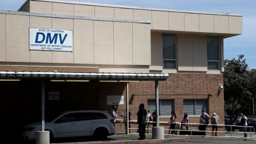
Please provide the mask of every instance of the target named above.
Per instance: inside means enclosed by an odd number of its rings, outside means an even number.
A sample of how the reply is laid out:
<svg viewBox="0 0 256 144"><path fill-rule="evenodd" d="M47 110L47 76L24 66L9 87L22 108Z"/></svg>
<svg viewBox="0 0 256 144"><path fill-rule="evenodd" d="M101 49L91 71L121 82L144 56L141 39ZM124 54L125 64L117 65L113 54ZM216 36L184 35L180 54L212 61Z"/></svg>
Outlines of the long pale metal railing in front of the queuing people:
<svg viewBox="0 0 256 144"><path fill-rule="evenodd" d="M124 123L126 121L124 121L123 119L117 119L116 122L120 122L120 127L121 129L125 129ZM136 120L131 120L129 121L131 124L132 123L137 123ZM150 124L150 126L152 127L152 124L155 122L147 122L147 124ZM224 129L224 131L212 131L212 125L214 124L198 124L198 123L170 123L170 122L159 122L159 124L161 125L166 125L169 126L169 129L164 129L164 131L168 131L168 132L172 132L174 131L175 135L187 135L189 137L226 137L226 138L244 138L243 134L245 133L244 131L241 132L241 130L244 129L244 127L246 127L246 133L247 135L250 135L249 139L252 139L252 134L255 133L255 129L253 126L238 126L238 125L223 125L223 124L218 124L215 125L218 128ZM175 124L175 129L171 130L171 124ZM186 126L185 124L188 125L188 130L186 130ZM183 125L185 127L185 129L181 129L180 125ZM206 127L205 131L202 130L198 130L199 125L204 125ZM230 129L230 131L226 131L225 129ZM129 128L129 130L131 129L135 129L138 130L138 127L131 127ZM146 126L146 132L149 131L149 134L151 134L151 129L152 128L147 128ZM210 130L209 130L210 129ZM239 130L237 131L233 131L233 130ZM250 130L250 131L247 131ZM180 132L182 134L180 134ZM217 133L224 133L225 136L221 136L223 134L220 134L218 136L214 136L212 134L212 132L217 132ZM165 132L166 133L166 132ZM186 134L185 134L186 133ZM203 135L202 133L206 133L205 135ZM210 133L210 134L209 134ZM172 135L172 134L164 134L164 135Z"/></svg>

